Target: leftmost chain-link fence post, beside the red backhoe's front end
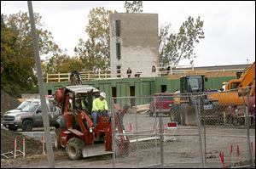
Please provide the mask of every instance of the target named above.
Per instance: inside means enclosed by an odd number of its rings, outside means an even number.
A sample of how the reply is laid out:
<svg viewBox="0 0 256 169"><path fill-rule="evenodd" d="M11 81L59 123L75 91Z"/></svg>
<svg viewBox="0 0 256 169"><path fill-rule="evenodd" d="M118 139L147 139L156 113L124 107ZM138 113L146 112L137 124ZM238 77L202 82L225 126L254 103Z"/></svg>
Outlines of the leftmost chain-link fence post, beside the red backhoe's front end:
<svg viewBox="0 0 256 169"><path fill-rule="evenodd" d="M111 98L111 110L112 110L112 112L111 112L111 127L112 127L112 150L113 150L113 158L112 158L112 160L113 160L113 168L115 167L115 154L116 154L116 150L115 150L115 125L114 125L114 106L113 106L113 104L114 104L114 98L112 97Z"/></svg>

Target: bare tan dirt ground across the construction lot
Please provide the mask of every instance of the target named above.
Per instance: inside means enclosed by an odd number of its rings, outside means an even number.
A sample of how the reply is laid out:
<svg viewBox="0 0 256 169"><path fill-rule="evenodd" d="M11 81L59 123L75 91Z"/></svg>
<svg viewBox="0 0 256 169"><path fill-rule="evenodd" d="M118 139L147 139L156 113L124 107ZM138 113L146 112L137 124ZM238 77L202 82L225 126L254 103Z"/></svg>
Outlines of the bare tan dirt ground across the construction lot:
<svg viewBox="0 0 256 169"><path fill-rule="evenodd" d="M129 131L131 121L134 121L135 115L126 115L124 119L125 128ZM137 121L140 121L137 128L140 131L154 129L154 117L149 117L147 114L137 115ZM164 117L163 122L169 121L169 117ZM136 131L136 125L133 123L133 129ZM152 132L150 132L152 133ZM164 166L160 167L200 167L200 149L197 127L181 127L176 130L166 130L164 137ZM149 133L148 133L149 134ZM219 152L224 151L226 166L236 164L238 161L246 161L247 146L246 146L246 129L245 128L230 128L230 127L207 127L207 148L206 158L207 167L221 167L219 160ZM251 140L255 144L255 129L250 129ZM131 139L136 139L136 135ZM203 140L202 140L203 141ZM157 144L157 146L155 146ZM230 144L240 145L241 157L238 159L234 153L231 162L228 160ZM2 145L1 145L2 147ZM137 147L139 149L137 149ZM235 152L235 148L234 148ZM113 167L112 155L102 155L90 158L84 158L80 161L70 161L67 158L64 149L56 150L55 167L60 168L110 168ZM255 148L253 149L253 160L255 159ZM154 140L133 143L129 149L129 155L115 157L115 167L142 167L154 164L160 164L160 142ZM17 160L1 159L2 167L48 167L45 155L42 155L42 150L27 155L26 159L19 157Z"/></svg>

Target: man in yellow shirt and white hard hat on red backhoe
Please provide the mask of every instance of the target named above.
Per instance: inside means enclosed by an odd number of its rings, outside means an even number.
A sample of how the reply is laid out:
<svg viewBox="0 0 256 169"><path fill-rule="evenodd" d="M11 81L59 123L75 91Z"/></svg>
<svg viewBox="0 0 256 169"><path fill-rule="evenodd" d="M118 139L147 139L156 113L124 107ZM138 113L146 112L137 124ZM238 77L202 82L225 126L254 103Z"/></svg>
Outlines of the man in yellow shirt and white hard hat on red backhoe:
<svg viewBox="0 0 256 169"><path fill-rule="evenodd" d="M100 93L100 97L96 98L92 102L92 117L93 125L96 127L98 121L98 113L102 113L103 116L108 115L108 103L106 100L106 93Z"/></svg>

